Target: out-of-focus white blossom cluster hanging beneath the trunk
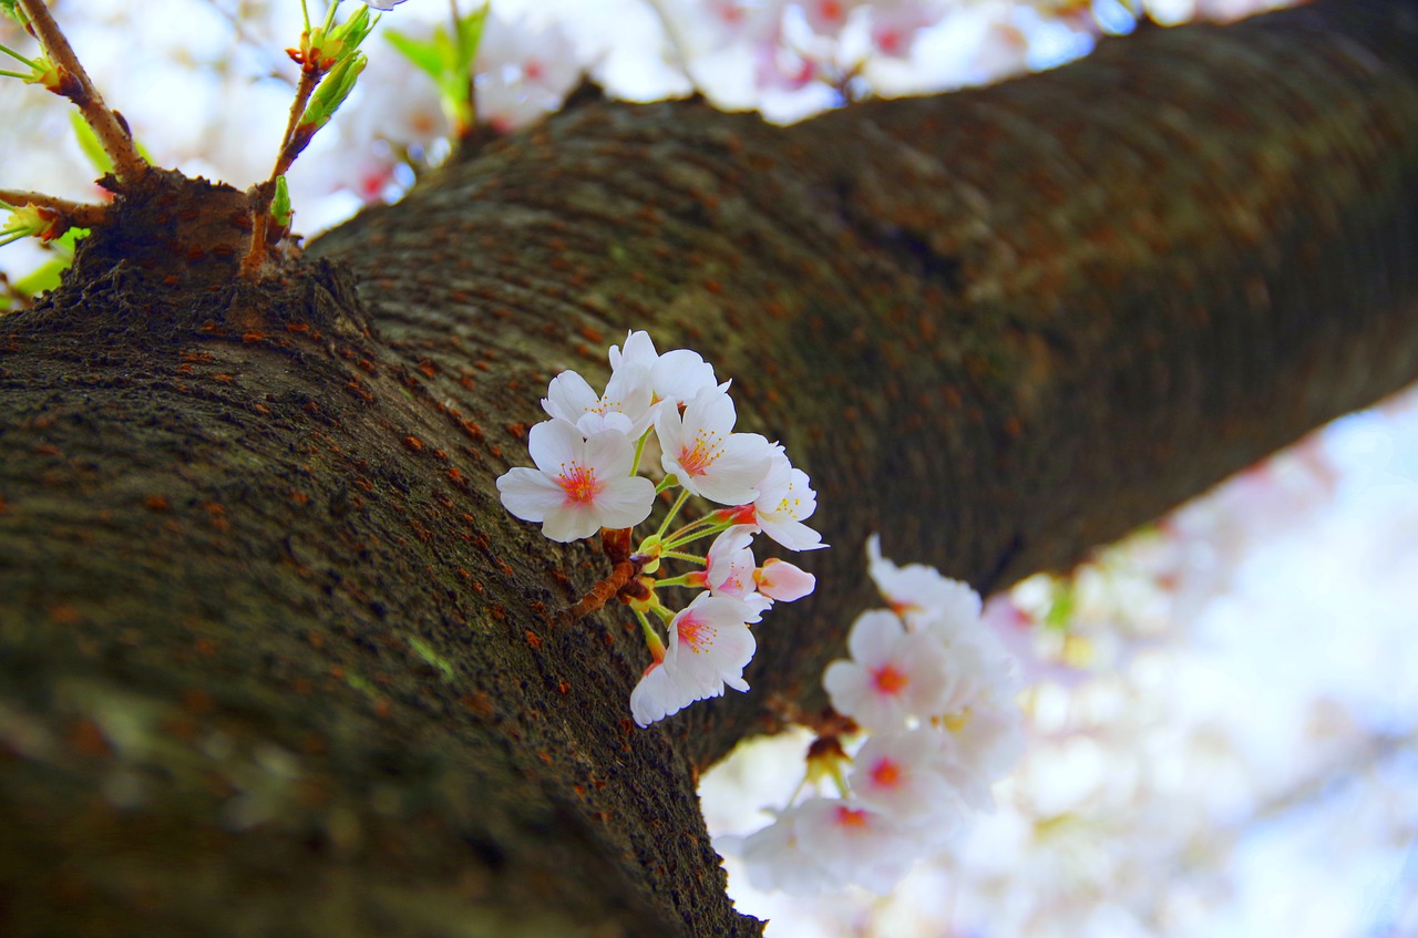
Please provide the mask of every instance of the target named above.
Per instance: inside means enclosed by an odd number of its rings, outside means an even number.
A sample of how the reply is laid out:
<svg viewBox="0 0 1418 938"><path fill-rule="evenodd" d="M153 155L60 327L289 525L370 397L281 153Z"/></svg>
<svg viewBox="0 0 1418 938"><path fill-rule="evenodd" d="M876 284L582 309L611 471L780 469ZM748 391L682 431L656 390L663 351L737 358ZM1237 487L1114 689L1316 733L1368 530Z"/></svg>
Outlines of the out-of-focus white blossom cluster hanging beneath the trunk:
<svg viewBox="0 0 1418 938"><path fill-rule="evenodd" d="M994 808L991 785L1020 755L1014 663L983 623L978 594L930 567L898 567L875 536L868 554L891 608L858 616L851 660L822 677L858 748L848 755L828 734L808 754L807 781L830 781L839 796L811 796L757 833L719 840L759 888L891 891L971 809Z"/></svg>

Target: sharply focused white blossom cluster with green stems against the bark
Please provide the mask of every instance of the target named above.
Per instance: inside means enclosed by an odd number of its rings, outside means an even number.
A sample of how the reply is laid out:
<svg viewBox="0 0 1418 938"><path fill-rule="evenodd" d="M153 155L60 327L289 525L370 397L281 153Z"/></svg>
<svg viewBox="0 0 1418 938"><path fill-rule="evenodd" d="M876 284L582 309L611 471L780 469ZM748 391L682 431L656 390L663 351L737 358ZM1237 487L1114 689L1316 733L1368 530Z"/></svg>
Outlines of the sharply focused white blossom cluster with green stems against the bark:
<svg viewBox="0 0 1418 938"><path fill-rule="evenodd" d="M652 657L630 700L644 727L723 694L725 686L747 690L743 669L756 649L749 626L774 602L800 599L817 585L790 563L757 565L754 534L790 550L825 544L803 523L817 507L807 475L778 443L735 432L729 383L718 383L713 366L686 349L658 354L644 332L630 333L624 349L611 346L610 364L601 394L576 371L552 378L542 401L552 419L527 435L536 469L509 470L498 490L512 514L540 523L554 541L601 531L607 555L625 571L605 581L605 592L635 612ZM658 485L637 475L655 452L665 473ZM675 487L681 492L658 530L631 551L628 529L649 517L657 495ZM727 507L671 530L689 496ZM705 555L689 553L716 534ZM657 577L664 560L696 568ZM661 587L703 592L674 611L657 592ZM666 639L649 615L659 618Z"/></svg>

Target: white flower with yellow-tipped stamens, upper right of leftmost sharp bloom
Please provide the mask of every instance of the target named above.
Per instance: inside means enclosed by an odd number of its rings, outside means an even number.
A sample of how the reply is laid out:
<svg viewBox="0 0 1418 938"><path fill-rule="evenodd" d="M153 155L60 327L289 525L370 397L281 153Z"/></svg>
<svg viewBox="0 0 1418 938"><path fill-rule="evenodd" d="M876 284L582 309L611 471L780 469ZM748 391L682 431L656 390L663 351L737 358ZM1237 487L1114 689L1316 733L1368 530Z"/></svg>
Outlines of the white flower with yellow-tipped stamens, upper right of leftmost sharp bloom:
<svg viewBox="0 0 1418 938"><path fill-rule="evenodd" d="M659 409L655 432L661 465L691 493L719 504L747 504L769 469L771 446L757 434L735 434L733 401L719 388L700 390L683 417Z"/></svg>

